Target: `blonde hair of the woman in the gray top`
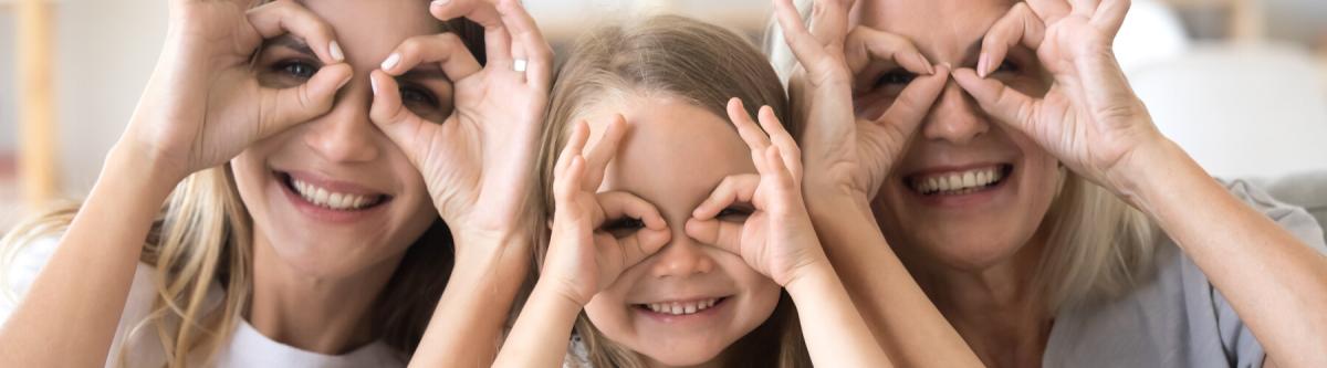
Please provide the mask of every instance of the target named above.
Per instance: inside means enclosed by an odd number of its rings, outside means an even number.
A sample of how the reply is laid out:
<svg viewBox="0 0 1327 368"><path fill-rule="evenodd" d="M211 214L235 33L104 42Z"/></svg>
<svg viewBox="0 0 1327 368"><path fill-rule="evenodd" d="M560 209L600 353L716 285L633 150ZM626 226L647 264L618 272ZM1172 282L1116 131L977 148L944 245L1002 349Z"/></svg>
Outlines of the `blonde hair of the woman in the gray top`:
<svg viewBox="0 0 1327 368"><path fill-rule="evenodd" d="M812 3L794 3L808 20ZM764 50L787 82L798 60L774 19ZM1119 297L1151 270L1157 232L1147 214L1071 171L1062 171L1059 193L1039 226L1048 236L1034 282L1050 311Z"/></svg>

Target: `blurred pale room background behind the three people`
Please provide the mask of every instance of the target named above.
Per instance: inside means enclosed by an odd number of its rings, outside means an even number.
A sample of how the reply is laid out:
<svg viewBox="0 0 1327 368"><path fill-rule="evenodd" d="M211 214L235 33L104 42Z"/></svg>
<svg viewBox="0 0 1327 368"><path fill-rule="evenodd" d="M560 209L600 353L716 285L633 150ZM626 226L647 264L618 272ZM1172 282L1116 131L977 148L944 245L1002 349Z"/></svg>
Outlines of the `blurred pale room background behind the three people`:
<svg viewBox="0 0 1327 368"><path fill-rule="evenodd" d="M768 0L525 3L555 45L587 20L640 12L683 13L759 41L771 13ZM166 16L162 0L0 0L0 233L92 188ZM1327 172L1327 1L1133 0L1116 52L1161 130L1213 175Z"/></svg>

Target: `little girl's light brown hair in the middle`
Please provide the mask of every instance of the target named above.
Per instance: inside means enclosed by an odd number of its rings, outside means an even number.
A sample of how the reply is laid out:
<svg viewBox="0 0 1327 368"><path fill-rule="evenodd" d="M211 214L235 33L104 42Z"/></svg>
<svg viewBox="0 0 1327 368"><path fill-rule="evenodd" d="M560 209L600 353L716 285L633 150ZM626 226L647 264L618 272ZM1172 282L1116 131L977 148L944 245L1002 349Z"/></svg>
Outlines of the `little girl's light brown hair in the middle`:
<svg viewBox="0 0 1327 368"><path fill-rule="evenodd" d="M587 109L621 98L624 94L667 95L727 116L729 98L746 102L747 113L768 105L778 116L787 116L783 86L759 50L740 36L723 28L681 16L652 16L630 25L602 26L577 40L571 58L559 69L549 101L548 123L540 150L539 196L544 210L536 224L547 224L555 203L552 168L568 139L571 122ZM784 119L790 131L795 124ZM543 263L548 249L547 232L536 246ZM605 336L583 312L576 335L584 340L592 367L644 367L636 352ZM768 353L768 345L778 348ZM809 357L802 342L796 310L787 294L760 327L747 334L729 351L742 355L752 367L807 367Z"/></svg>

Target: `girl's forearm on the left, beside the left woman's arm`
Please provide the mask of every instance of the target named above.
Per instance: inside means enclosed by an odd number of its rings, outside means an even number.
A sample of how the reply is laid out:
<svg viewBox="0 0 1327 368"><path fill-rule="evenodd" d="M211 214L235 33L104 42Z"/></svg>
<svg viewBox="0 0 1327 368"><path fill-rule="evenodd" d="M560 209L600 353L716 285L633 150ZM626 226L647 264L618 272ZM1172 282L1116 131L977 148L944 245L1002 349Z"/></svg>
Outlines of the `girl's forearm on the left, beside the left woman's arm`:
<svg viewBox="0 0 1327 368"><path fill-rule="evenodd" d="M547 285L535 286L494 367L559 367L581 308Z"/></svg>

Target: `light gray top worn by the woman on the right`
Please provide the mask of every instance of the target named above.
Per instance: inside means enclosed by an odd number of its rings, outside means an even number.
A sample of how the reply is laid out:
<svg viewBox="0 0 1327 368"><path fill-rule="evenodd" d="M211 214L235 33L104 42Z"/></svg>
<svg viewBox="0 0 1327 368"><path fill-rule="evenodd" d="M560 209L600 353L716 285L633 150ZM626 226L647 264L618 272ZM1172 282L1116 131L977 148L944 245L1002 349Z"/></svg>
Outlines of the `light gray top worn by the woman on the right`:
<svg viewBox="0 0 1327 368"><path fill-rule="evenodd" d="M1327 254L1322 228L1302 208L1279 203L1243 181L1226 188ZM1043 365L1262 367L1262 344L1173 240L1160 244L1154 265L1153 277L1128 295L1062 310Z"/></svg>

